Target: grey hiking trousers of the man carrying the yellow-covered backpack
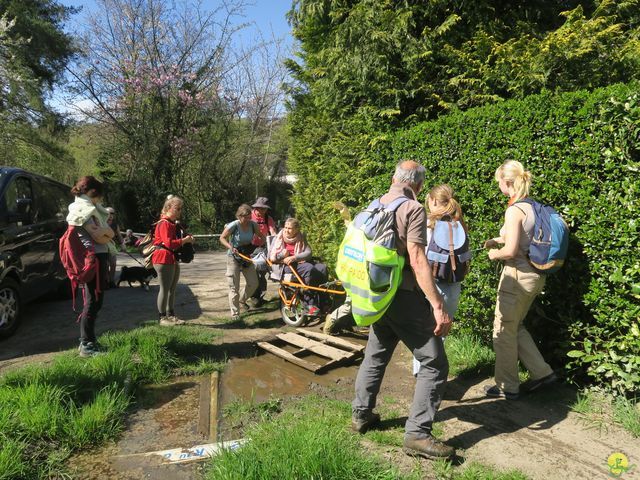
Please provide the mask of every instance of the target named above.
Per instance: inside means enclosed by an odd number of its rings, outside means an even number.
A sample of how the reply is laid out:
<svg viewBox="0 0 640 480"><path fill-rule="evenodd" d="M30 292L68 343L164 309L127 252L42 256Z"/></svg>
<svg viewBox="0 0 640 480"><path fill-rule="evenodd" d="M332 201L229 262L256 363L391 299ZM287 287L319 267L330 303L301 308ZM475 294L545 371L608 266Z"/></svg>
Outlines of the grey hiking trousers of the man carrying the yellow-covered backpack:
<svg viewBox="0 0 640 480"><path fill-rule="evenodd" d="M389 310L369 330L369 340L356 377L354 412L376 406L384 372L393 351L402 341L420 362L405 435L426 438L444 394L449 361L441 337L433 334L435 320L422 293L398 290ZM409 375L409 373L407 373Z"/></svg>

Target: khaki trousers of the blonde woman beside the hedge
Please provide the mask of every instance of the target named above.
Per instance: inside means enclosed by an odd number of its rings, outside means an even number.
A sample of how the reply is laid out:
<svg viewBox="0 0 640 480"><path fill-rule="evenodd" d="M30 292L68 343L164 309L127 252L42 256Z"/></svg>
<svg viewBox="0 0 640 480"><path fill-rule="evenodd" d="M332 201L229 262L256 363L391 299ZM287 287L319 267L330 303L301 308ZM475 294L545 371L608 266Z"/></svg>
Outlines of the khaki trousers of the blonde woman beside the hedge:
<svg viewBox="0 0 640 480"><path fill-rule="evenodd" d="M505 266L502 271L493 322L493 350L496 353L496 385L505 392L519 391L518 359L534 380L553 372L523 325L545 280L544 275L528 265Z"/></svg>

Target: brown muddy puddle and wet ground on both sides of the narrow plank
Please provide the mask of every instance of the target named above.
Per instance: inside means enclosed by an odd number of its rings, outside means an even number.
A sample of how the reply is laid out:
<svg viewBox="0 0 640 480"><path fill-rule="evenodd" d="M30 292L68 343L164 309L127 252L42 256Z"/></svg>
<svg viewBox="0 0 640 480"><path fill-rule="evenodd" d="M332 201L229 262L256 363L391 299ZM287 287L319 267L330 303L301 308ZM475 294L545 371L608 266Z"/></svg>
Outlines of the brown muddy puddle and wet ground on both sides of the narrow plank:
<svg viewBox="0 0 640 480"><path fill-rule="evenodd" d="M326 361L314 355L305 357L305 360L320 364ZM232 440L240 434L232 428L225 428L225 405L233 402L257 405L312 392L326 394L335 387L352 384L358 363L316 375L262 350L256 351L254 357L232 359L220 374L217 440ZM145 387L116 443L73 457L73 478L202 478L205 462L164 464L160 457L142 455L216 441L198 431L202 408L200 399L200 377L176 378L167 385Z"/></svg>

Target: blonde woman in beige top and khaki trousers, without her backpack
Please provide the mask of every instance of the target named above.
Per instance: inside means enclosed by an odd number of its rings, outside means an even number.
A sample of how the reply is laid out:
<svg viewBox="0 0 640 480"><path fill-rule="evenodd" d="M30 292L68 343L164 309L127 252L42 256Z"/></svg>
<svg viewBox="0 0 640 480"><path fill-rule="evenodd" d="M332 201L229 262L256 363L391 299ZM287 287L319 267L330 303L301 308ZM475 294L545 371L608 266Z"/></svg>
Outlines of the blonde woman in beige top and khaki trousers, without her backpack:
<svg viewBox="0 0 640 480"><path fill-rule="evenodd" d="M493 349L496 353L495 385L486 385L488 397L518 399L520 392L553 383L557 377L544 361L524 318L544 288L546 276L538 272L527 258L535 230L531 204L522 202L529 196L531 173L520 162L509 160L496 170L495 179L503 195L509 197L500 236L487 240L490 260L503 260L498 284L493 322ZM501 248L497 248L503 245ZM531 380L520 385L518 359L529 370Z"/></svg>

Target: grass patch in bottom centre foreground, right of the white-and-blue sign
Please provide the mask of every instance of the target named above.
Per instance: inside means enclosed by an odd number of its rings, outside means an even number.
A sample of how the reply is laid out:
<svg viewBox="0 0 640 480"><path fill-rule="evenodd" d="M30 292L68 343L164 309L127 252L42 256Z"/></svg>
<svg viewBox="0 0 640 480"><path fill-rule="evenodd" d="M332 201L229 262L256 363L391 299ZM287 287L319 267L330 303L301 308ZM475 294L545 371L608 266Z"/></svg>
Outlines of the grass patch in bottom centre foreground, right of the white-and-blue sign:
<svg viewBox="0 0 640 480"><path fill-rule="evenodd" d="M375 454L363 451L359 437L347 426L351 408L346 402L309 396L287 405L273 418L250 427L249 442L224 452L207 466L215 480L418 479Z"/></svg>

